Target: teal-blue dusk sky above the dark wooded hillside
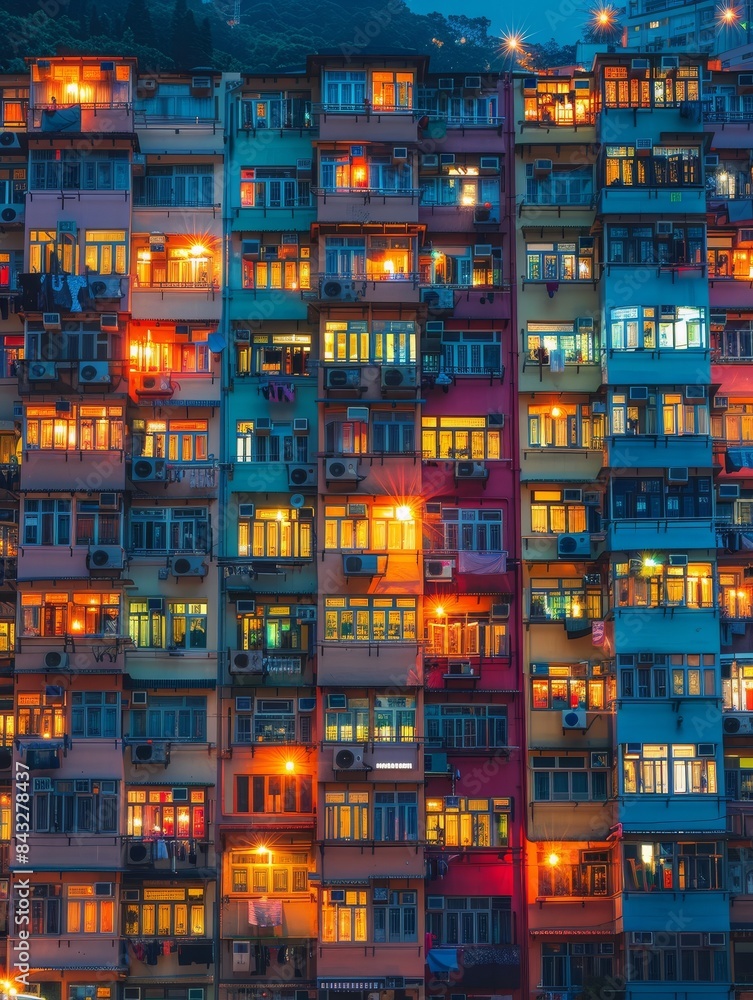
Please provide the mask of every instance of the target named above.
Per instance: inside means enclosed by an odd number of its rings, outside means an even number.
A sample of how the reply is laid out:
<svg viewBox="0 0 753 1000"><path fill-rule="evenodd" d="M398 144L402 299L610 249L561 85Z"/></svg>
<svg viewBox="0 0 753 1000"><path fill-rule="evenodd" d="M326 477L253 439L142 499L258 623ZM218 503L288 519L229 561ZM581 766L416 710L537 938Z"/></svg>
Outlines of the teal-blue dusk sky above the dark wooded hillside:
<svg viewBox="0 0 753 1000"><path fill-rule="evenodd" d="M552 37L562 43L576 42L588 20L588 5L570 0L543 0L536 5L535 13L531 6L521 4L520 0L408 0L408 6L417 14L438 10L444 15L488 17L493 34L522 29L532 42L547 42ZM581 9L569 14L576 6ZM569 16L560 13L564 11Z"/></svg>

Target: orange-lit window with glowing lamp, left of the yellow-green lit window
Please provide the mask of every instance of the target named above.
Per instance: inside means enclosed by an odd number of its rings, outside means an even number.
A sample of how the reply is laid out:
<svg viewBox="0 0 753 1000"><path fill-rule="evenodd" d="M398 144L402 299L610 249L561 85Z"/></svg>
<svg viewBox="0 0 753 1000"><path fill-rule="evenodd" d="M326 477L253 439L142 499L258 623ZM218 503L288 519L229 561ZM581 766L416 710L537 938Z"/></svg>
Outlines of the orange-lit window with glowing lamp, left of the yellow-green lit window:
<svg viewBox="0 0 753 1000"><path fill-rule="evenodd" d="M120 595L60 591L21 595L24 636L120 635Z"/></svg>

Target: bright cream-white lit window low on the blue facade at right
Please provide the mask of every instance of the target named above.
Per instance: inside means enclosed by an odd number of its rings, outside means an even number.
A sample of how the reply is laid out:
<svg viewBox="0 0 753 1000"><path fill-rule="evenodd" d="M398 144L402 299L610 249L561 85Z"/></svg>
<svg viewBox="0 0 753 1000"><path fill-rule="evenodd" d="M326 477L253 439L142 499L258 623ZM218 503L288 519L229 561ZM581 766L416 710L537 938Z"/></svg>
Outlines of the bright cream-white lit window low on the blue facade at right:
<svg viewBox="0 0 753 1000"><path fill-rule="evenodd" d="M715 754L714 744L709 747ZM626 795L716 795L716 760L693 743L628 743L622 754Z"/></svg>

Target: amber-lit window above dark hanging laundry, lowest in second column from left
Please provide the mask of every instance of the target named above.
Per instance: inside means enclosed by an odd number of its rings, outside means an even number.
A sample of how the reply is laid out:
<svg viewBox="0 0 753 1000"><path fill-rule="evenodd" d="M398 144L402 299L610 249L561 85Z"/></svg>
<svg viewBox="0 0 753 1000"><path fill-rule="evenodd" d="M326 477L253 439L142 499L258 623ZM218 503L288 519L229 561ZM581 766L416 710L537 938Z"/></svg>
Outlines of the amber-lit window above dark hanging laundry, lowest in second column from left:
<svg viewBox="0 0 753 1000"><path fill-rule="evenodd" d="M128 937L204 937L207 933L204 887L140 890L139 901L124 905Z"/></svg>

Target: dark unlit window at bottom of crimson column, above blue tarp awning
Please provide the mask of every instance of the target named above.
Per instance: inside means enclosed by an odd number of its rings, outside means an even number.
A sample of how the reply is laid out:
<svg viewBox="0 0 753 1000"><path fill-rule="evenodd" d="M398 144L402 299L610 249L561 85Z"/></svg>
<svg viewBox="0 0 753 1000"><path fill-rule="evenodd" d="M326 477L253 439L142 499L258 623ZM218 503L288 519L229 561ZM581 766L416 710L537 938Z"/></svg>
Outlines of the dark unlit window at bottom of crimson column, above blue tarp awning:
<svg viewBox="0 0 753 1000"><path fill-rule="evenodd" d="M510 896L430 896L428 911L426 930L440 945L513 941Z"/></svg>

